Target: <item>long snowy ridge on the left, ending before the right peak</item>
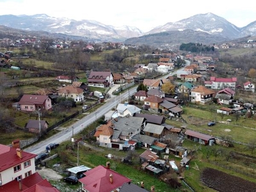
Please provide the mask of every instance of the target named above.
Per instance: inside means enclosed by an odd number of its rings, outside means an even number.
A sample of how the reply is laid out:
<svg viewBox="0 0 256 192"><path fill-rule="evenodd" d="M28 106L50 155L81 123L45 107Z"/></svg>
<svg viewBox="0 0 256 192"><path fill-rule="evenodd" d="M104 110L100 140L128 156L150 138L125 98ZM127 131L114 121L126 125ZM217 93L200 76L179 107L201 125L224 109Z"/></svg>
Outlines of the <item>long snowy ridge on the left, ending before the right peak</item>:
<svg viewBox="0 0 256 192"><path fill-rule="evenodd" d="M114 27L102 24L95 20L74 20L68 18L49 17L38 15L1 15L0 25L28 31L48 31L66 35L86 36L91 40L123 41L127 38L140 36L140 29L129 26Z"/></svg>

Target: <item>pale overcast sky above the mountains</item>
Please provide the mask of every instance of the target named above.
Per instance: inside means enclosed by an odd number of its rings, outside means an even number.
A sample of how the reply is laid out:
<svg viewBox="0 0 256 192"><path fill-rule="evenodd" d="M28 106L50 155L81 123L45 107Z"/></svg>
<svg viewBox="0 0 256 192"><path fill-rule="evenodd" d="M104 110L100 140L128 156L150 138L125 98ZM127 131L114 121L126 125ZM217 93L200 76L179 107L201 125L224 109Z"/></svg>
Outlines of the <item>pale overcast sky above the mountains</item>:
<svg viewBox="0 0 256 192"><path fill-rule="evenodd" d="M96 20L112 26L134 26L143 32L196 14L214 13L241 28L256 20L256 1L227 0L0 0L0 15L35 15Z"/></svg>

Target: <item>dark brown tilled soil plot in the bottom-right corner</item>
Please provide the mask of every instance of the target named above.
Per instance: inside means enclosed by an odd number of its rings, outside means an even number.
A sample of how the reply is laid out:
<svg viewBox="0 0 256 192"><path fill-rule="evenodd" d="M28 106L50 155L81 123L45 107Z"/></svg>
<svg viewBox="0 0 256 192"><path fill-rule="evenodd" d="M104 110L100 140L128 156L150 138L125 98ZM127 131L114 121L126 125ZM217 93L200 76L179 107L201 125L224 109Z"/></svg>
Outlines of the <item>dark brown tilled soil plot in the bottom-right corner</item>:
<svg viewBox="0 0 256 192"><path fill-rule="evenodd" d="M220 192L256 191L255 183L212 168L205 168L202 172L201 180L209 188Z"/></svg>

